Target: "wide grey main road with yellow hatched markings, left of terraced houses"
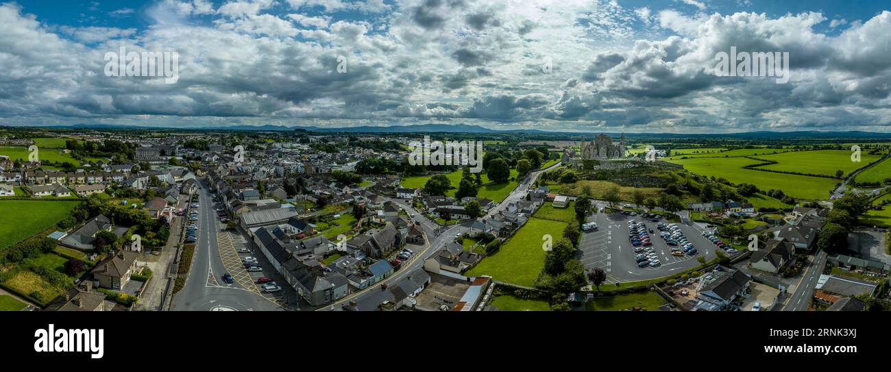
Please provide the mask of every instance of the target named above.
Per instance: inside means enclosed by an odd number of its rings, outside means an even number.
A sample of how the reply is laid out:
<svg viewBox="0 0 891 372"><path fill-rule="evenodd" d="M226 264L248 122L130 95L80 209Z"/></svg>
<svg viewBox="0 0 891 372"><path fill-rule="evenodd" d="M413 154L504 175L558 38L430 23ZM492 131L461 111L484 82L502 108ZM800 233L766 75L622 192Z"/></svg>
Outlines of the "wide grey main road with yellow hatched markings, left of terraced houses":
<svg viewBox="0 0 891 372"><path fill-rule="evenodd" d="M202 181L203 183L203 181ZM228 272L220 255L218 240L222 225L217 221L208 188L199 190L199 220L192 269L185 287L174 295L171 311L274 311L282 307L260 295L256 287L221 278ZM238 263L241 264L241 263ZM231 267L231 266L230 266ZM234 274L233 274L234 275Z"/></svg>

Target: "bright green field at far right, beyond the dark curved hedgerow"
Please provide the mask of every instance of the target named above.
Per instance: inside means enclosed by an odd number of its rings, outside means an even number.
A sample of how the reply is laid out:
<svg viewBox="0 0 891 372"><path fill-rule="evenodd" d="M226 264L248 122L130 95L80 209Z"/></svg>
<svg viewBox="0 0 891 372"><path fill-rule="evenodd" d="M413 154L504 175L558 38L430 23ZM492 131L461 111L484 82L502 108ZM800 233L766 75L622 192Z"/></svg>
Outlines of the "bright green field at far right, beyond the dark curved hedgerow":
<svg viewBox="0 0 891 372"><path fill-rule="evenodd" d="M866 166L879 160L879 155L862 153L861 161L851 161L851 151L846 150L817 150L817 151L791 151L776 155L764 155L759 159L771 160L779 164L759 166L759 168L780 172L797 172L803 174L824 174L835 176L837 170L845 172L845 175L853 173L857 168Z"/></svg>

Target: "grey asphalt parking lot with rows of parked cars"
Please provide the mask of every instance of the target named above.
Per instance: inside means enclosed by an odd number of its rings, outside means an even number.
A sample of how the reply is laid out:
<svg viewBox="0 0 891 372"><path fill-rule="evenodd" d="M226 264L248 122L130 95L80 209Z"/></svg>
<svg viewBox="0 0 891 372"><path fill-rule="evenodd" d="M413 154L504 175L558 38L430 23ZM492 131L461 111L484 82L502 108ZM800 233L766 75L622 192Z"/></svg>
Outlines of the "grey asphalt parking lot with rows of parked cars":
<svg viewBox="0 0 891 372"><path fill-rule="evenodd" d="M628 239L629 220L643 222L647 230L653 230L650 242L653 253L660 262L658 266L638 267L634 259L637 254L634 253L634 246ZM583 232L579 244L580 259L586 269L599 267L606 271L608 283L660 278L671 275L674 271L683 271L699 265L697 257L703 256L707 260L715 258L715 245L701 235L702 230L689 222L677 224L698 253L679 256L672 255L671 247L666 245L666 240L659 237L657 223L669 223L664 218L658 222L650 222L641 216L597 212L589 216L587 221L596 222L598 228Z"/></svg>

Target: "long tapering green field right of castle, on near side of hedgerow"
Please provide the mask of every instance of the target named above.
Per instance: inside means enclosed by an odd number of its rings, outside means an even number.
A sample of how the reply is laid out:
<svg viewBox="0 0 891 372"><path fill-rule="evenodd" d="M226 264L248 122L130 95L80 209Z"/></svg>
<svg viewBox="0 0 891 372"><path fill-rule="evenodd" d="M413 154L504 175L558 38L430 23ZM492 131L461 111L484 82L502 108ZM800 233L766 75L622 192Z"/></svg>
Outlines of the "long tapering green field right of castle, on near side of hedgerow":
<svg viewBox="0 0 891 372"><path fill-rule="evenodd" d="M798 174L775 174L772 172L744 169L743 166L759 164L749 158L687 158L669 160L692 173L705 176L723 177L733 183L753 183L761 190L782 190L793 198L822 200L828 198L837 180Z"/></svg>

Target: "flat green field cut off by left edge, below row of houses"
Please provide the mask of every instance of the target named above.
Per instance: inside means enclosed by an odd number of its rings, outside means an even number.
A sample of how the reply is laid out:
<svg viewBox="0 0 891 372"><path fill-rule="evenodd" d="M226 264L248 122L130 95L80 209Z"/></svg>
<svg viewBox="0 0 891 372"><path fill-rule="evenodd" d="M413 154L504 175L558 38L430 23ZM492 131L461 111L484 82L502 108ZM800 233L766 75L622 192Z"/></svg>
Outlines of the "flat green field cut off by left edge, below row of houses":
<svg viewBox="0 0 891 372"><path fill-rule="evenodd" d="M0 250L53 227L77 201L0 200Z"/></svg>

